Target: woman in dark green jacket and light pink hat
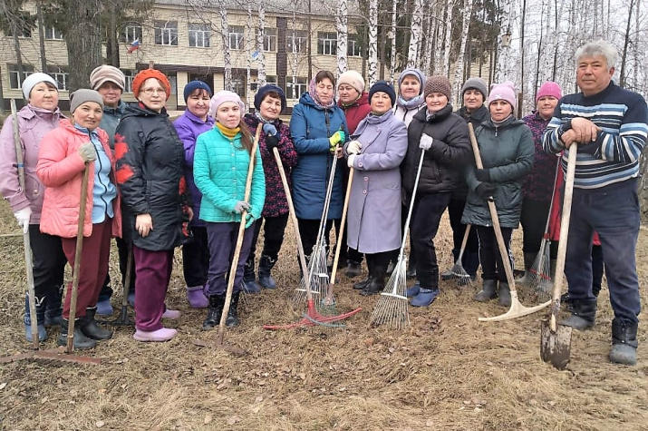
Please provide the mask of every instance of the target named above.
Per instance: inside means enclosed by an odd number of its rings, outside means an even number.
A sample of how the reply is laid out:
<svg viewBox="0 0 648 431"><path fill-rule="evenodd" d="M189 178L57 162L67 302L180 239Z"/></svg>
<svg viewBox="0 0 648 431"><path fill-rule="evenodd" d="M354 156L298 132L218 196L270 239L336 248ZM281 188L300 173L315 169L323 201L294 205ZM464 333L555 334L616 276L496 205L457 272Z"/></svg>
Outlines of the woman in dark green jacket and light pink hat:
<svg viewBox="0 0 648 431"><path fill-rule="evenodd" d="M533 168L533 134L513 114L516 93L513 83L496 83L488 95L490 119L477 128L483 169L470 168L466 181L469 193L461 222L472 224L479 235L482 289L475 300L487 302L499 296L499 305L511 304L507 275L488 211L492 197L510 259L510 239L522 212L522 181ZM513 262L511 260L511 266Z"/></svg>

